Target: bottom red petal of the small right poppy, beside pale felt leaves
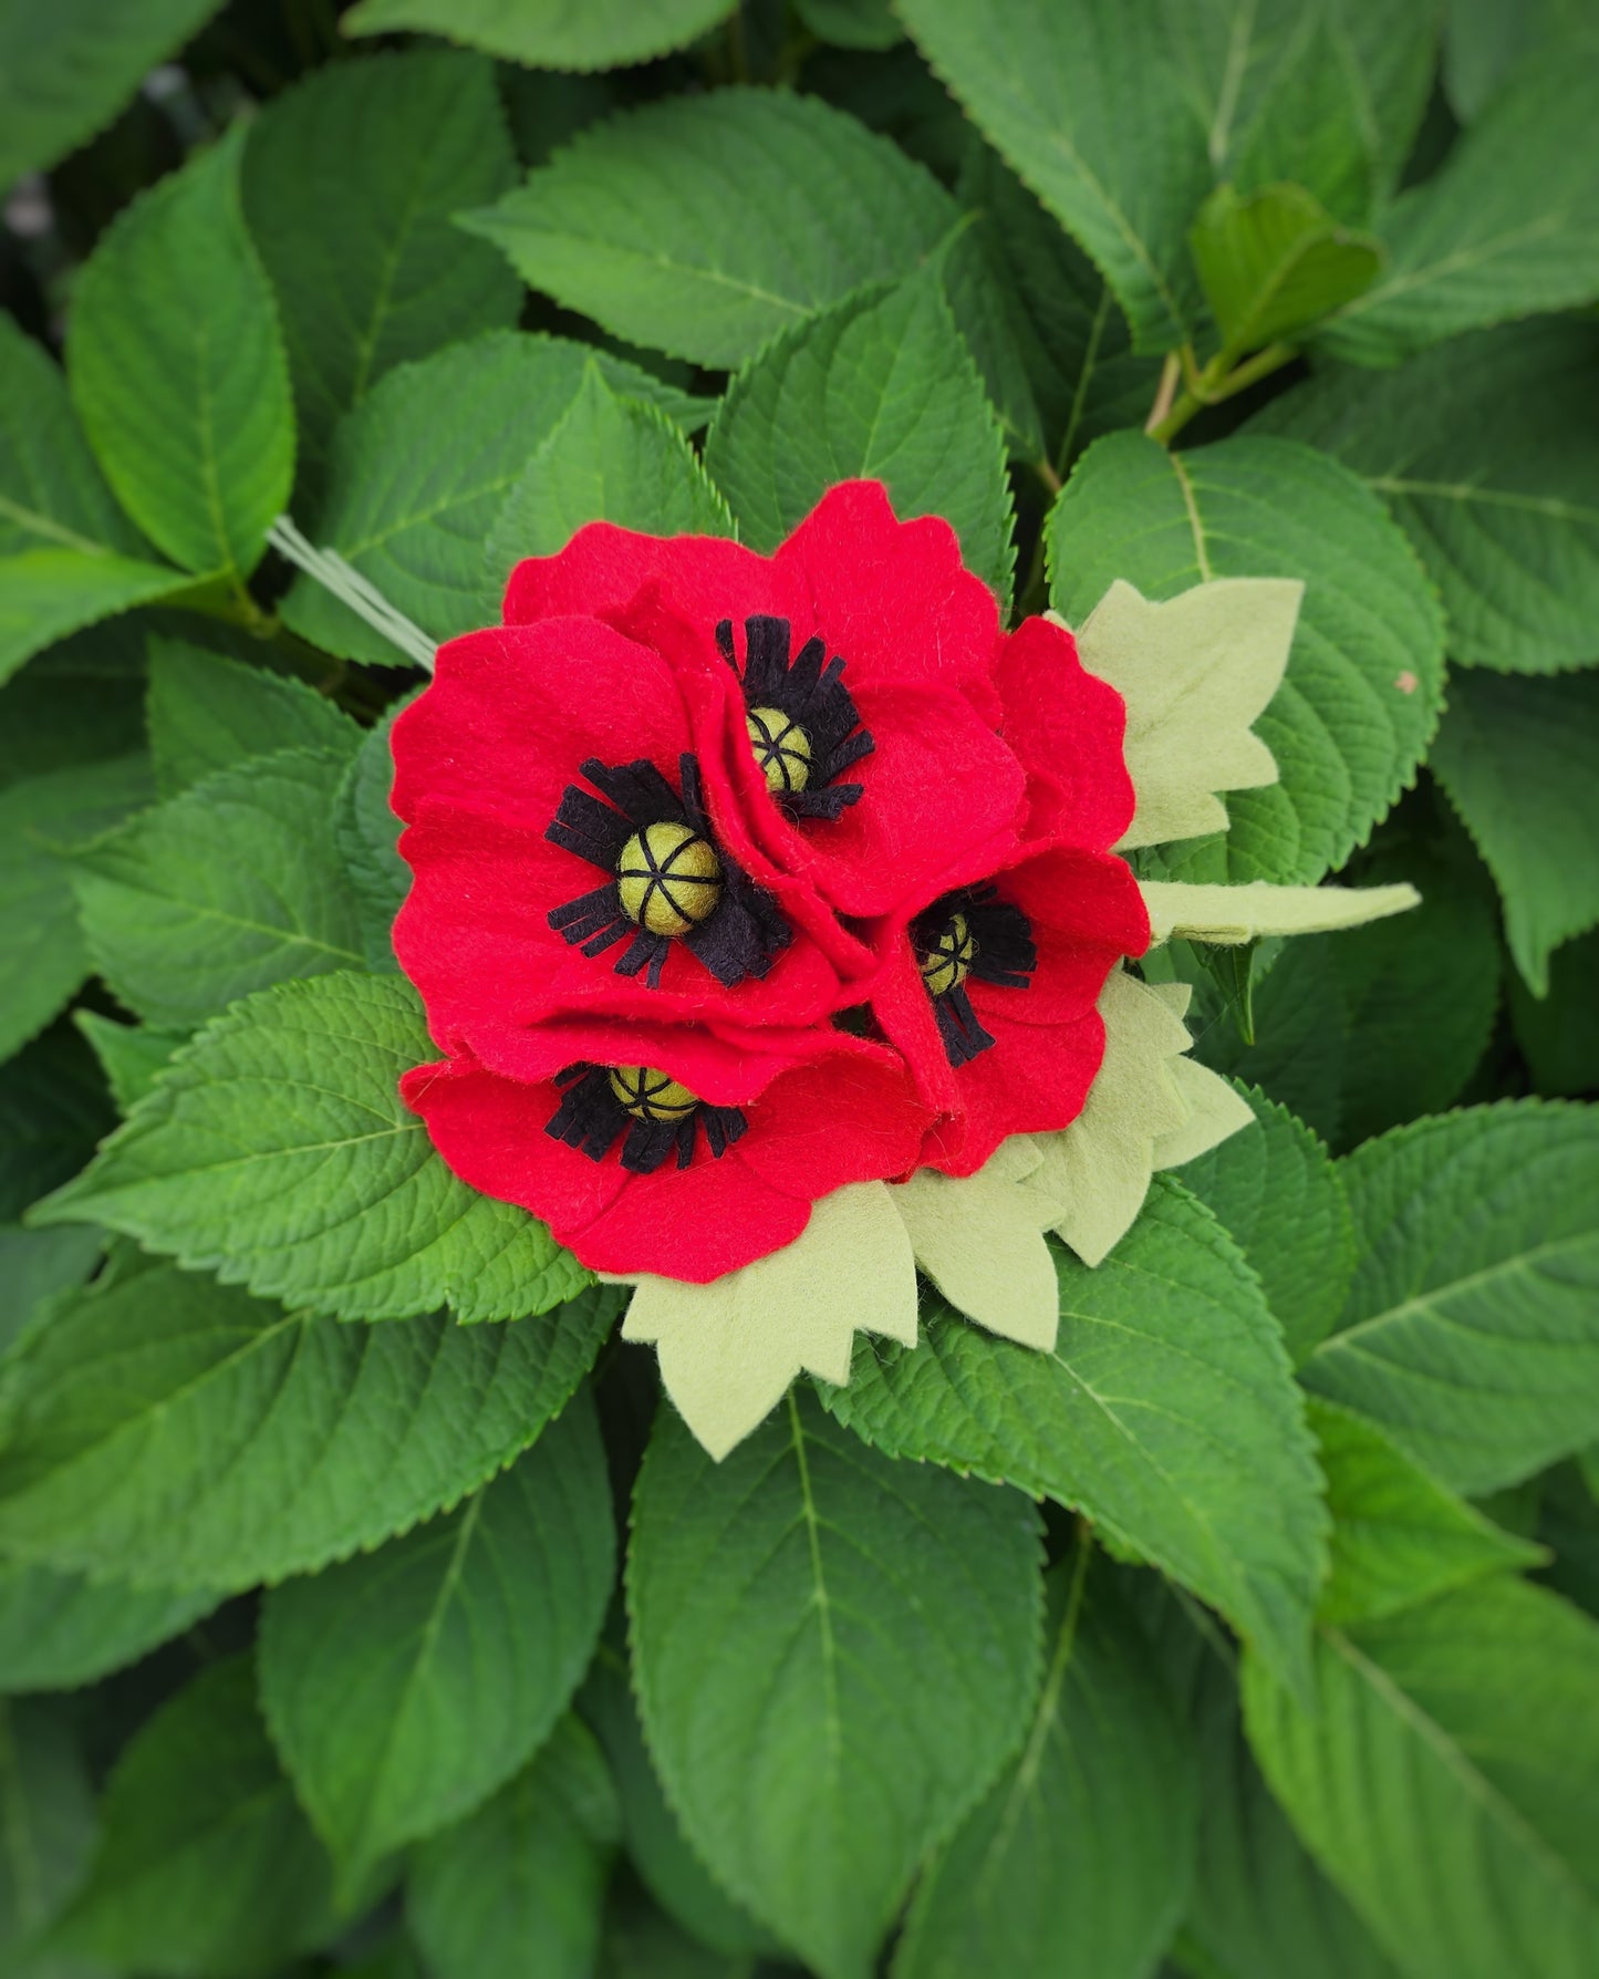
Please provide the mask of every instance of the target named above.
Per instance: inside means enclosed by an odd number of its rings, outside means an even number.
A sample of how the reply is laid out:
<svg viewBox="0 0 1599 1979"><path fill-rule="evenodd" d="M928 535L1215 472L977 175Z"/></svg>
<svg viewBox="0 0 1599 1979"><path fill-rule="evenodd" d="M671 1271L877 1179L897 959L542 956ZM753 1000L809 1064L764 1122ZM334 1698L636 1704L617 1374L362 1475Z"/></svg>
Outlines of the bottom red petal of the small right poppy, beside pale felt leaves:
<svg viewBox="0 0 1599 1979"><path fill-rule="evenodd" d="M1071 1126L1104 1059L1104 1019L1096 1009L1077 1023L1011 1023L984 1011L993 1045L956 1075L960 1114L938 1122L922 1148L928 1168L972 1176L1011 1134L1047 1134Z"/></svg>

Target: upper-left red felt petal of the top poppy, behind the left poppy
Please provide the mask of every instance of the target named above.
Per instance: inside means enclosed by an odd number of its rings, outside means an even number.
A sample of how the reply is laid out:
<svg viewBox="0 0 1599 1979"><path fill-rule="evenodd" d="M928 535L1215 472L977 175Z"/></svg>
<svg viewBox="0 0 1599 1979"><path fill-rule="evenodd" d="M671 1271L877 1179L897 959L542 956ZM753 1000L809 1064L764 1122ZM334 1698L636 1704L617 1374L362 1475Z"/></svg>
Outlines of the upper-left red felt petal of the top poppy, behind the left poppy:
<svg viewBox="0 0 1599 1979"><path fill-rule="evenodd" d="M558 556L528 556L505 588L505 623L619 612L645 584L663 584L695 623L784 613L790 594L768 556L724 536L641 536L590 522Z"/></svg>

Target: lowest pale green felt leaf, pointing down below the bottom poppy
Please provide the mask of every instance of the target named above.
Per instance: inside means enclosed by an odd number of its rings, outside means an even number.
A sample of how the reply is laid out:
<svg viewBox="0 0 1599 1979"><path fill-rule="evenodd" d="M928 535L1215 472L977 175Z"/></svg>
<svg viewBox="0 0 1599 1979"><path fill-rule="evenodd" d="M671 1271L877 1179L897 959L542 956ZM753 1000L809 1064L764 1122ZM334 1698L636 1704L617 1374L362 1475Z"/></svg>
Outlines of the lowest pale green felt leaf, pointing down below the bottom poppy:
<svg viewBox="0 0 1599 1979"><path fill-rule="evenodd" d="M801 1237L714 1284L639 1276L623 1340L651 1342L661 1381L722 1459L800 1373L845 1383L857 1332L916 1344L910 1239L881 1181L825 1195Z"/></svg>

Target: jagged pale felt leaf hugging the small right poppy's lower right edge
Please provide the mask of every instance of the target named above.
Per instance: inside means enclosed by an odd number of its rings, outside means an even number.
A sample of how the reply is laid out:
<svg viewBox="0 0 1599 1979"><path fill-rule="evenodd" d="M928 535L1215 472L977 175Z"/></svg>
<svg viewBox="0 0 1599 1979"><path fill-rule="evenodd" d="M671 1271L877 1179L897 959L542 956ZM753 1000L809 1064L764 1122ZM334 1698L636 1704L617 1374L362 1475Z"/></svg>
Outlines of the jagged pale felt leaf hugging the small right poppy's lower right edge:
<svg viewBox="0 0 1599 1979"><path fill-rule="evenodd" d="M1067 1203L1055 1229L1084 1265L1104 1263L1128 1233L1150 1193L1158 1144L1189 1118L1174 1067L1191 1039L1174 1003L1116 970L1098 1013L1104 1063L1088 1100L1065 1132L1037 1138L1039 1187Z"/></svg>

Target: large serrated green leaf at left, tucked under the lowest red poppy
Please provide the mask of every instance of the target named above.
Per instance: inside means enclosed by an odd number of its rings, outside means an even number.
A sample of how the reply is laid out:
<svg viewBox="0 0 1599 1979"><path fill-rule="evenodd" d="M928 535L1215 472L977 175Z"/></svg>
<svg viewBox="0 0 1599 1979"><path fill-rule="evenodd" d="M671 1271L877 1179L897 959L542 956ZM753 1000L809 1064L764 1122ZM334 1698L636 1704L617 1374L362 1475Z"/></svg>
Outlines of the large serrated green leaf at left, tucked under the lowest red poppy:
<svg viewBox="0 0 1599 1979"><path fill-rule="evenodd" d="M433 1053L400 978L319 976L235 1003L95 1164L36 1211L346 1320L517 1320L588 1272L443 1166L398 1079Z"/></svg>

